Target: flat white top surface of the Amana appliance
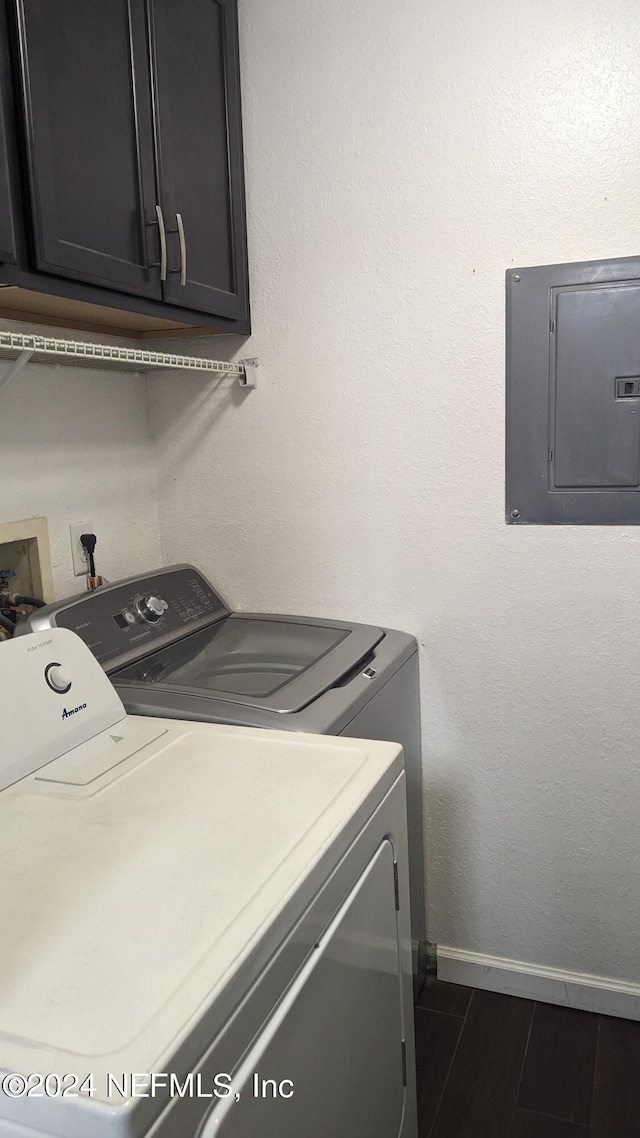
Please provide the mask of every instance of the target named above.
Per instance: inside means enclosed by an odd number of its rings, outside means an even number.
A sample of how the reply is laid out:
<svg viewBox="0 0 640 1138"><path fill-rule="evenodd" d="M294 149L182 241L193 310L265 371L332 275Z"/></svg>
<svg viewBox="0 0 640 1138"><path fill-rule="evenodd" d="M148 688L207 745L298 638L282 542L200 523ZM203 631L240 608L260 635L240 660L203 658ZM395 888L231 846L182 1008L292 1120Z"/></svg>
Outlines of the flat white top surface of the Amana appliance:
<svg viewBox="0 0 640 1138"><path fill-rule="evenodd" d="M213 1038L243 962L402 769L393 743L148 723L166 733L122 773L0 794L0 1067L96 1083L88 1103L0 1096L0 1133L5 1114L85 1138L88 1108L95 1138L132 1132L101 1113L106 1072L167 1070L205 1013Z"/></svg>

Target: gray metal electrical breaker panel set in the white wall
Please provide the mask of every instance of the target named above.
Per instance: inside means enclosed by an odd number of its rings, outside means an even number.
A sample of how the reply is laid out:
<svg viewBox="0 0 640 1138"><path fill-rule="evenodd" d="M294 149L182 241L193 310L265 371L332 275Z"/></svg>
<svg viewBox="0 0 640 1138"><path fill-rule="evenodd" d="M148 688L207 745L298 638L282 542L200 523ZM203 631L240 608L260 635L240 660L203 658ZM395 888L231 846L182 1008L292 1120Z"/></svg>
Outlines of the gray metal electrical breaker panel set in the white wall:
<svg viewBox="0 0 640 1138"><path fill-rule="evenodd" d="M507 272L507 521L640 523L640 258Z"/></svg>

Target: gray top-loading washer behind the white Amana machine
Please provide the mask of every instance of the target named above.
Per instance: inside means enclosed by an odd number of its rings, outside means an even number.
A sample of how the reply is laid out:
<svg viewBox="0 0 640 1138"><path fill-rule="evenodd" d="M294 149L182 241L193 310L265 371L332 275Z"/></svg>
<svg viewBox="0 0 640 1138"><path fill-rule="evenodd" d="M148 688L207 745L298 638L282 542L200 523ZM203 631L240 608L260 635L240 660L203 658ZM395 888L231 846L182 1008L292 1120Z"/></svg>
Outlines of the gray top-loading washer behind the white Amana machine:
<svg viewBox="0 0 640 1138"><path fill-rule="evenodd" d="M426 972L418 645L391 628L231 612L194 566L172 566L34 612L66 627L133 715L399 742L404 751L413 987Z"/></svg>

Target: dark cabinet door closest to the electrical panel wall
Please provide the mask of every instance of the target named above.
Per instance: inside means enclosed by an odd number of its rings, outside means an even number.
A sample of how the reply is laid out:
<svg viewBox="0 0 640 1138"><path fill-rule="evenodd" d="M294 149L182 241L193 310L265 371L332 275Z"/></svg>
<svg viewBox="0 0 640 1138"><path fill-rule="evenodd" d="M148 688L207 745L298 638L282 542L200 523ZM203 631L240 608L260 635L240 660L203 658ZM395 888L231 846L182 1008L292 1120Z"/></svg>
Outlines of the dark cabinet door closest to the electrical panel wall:
<svg viewBox="0 0 640 1138"><path fill-rule="evenodd" d="M149 0L165 298L248 313L235 0Z"/></svg>

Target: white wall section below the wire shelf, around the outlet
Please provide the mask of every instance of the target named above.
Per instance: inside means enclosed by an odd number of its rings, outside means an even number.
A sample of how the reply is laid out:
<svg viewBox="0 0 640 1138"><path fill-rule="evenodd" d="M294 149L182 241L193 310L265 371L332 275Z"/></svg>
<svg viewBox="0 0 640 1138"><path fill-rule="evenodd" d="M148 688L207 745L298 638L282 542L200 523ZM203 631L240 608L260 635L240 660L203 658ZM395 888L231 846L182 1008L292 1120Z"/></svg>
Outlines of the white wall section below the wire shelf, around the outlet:
<svg viewBox="0 0 640 1138"><path fill-rule="evenodd" d="M1 328L43 332L6 321ZM91 339L75 331L68 336ZM0 379L5 370L2 362ZM155 452L143 377L27 364L1 396L0 522L41 516L49 525L58 597L84 587L84 579L73 576L72 522L93 522L97 569L105 577L158 564Z"/></svg>

